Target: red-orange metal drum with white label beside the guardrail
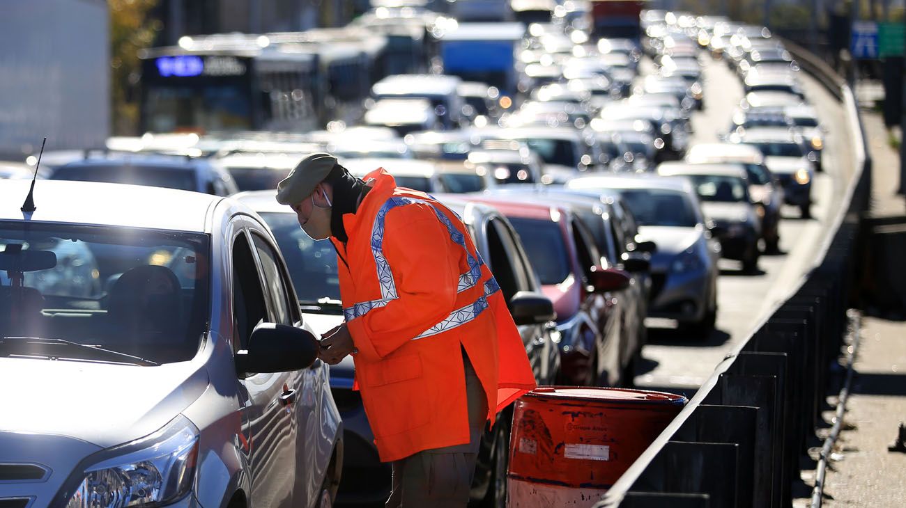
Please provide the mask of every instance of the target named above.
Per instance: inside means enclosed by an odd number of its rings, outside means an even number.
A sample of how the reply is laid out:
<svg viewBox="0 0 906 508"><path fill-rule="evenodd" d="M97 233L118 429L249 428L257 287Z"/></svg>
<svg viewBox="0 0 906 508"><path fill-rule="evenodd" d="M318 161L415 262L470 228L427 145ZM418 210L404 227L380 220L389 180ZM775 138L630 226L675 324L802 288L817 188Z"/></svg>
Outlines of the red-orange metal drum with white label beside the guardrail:
<svg viewBox="0 0 906 508"><path fill-rule="evenodd" d="M687 400L660 391L543 387L513 412L509 508L592 506Z"/></svg>

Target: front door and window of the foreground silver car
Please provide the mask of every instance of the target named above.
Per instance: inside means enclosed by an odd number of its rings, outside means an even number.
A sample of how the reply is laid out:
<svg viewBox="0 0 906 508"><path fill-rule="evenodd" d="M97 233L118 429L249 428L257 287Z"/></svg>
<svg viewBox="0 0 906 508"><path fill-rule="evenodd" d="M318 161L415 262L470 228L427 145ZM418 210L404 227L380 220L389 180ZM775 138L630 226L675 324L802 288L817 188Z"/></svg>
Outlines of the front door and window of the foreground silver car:
<svg viewBox="0 0 906 508"><path fill-rule="evenodd" d="M247 230L249 221L233 239L234 347L245 349L255 325L274 323L275 309L268 300L263 270ZM293 372L248 373L239 380L242 404L243 447L250 467L253 507L291 507L296 473L296 421L293 395L299 386ZM293 390L296 390L293 393Z"/></svg>

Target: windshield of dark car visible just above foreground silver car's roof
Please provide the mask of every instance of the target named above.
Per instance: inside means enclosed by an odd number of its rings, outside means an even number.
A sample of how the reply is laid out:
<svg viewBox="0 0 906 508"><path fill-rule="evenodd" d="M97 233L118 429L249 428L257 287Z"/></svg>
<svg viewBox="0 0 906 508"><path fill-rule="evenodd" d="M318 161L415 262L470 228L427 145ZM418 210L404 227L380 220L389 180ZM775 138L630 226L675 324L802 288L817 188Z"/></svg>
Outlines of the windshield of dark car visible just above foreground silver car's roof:
<svg viewBox="0 0 906 508"><path fill-rule="evenodd" d="M131 183L165 187L180 191L198 191L195 171L153 165L64 165L51 175L52 180L78 182Z"/></svg>

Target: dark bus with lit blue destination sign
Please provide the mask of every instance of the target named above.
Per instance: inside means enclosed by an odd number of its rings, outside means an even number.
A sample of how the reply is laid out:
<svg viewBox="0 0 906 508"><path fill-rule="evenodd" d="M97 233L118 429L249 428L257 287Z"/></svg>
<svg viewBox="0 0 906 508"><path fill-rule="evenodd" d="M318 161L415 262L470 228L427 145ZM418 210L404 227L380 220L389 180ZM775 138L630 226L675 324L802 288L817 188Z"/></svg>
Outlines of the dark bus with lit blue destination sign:
<svg viewBox="0 0 906 508"><path fill-rule="evenodd" d="M327 119L328 82L317 52L285 52L264 36L183 37L145 50L143 132L306 132Z"/></svg>

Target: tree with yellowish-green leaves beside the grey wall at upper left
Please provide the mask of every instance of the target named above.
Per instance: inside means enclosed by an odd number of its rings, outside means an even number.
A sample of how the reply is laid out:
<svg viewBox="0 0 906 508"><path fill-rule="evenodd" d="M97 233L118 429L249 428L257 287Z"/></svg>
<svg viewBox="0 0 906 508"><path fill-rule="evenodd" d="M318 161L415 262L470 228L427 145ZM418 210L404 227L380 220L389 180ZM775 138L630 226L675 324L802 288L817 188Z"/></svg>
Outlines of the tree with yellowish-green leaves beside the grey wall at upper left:
<svg viewBox="0 0 906 508"><path fill-rule="evenodd" d="M139 124L139 52L163 28L151 13L158 0L109 0L111 15L111 126L119 135L136 134Z"/></svg>

